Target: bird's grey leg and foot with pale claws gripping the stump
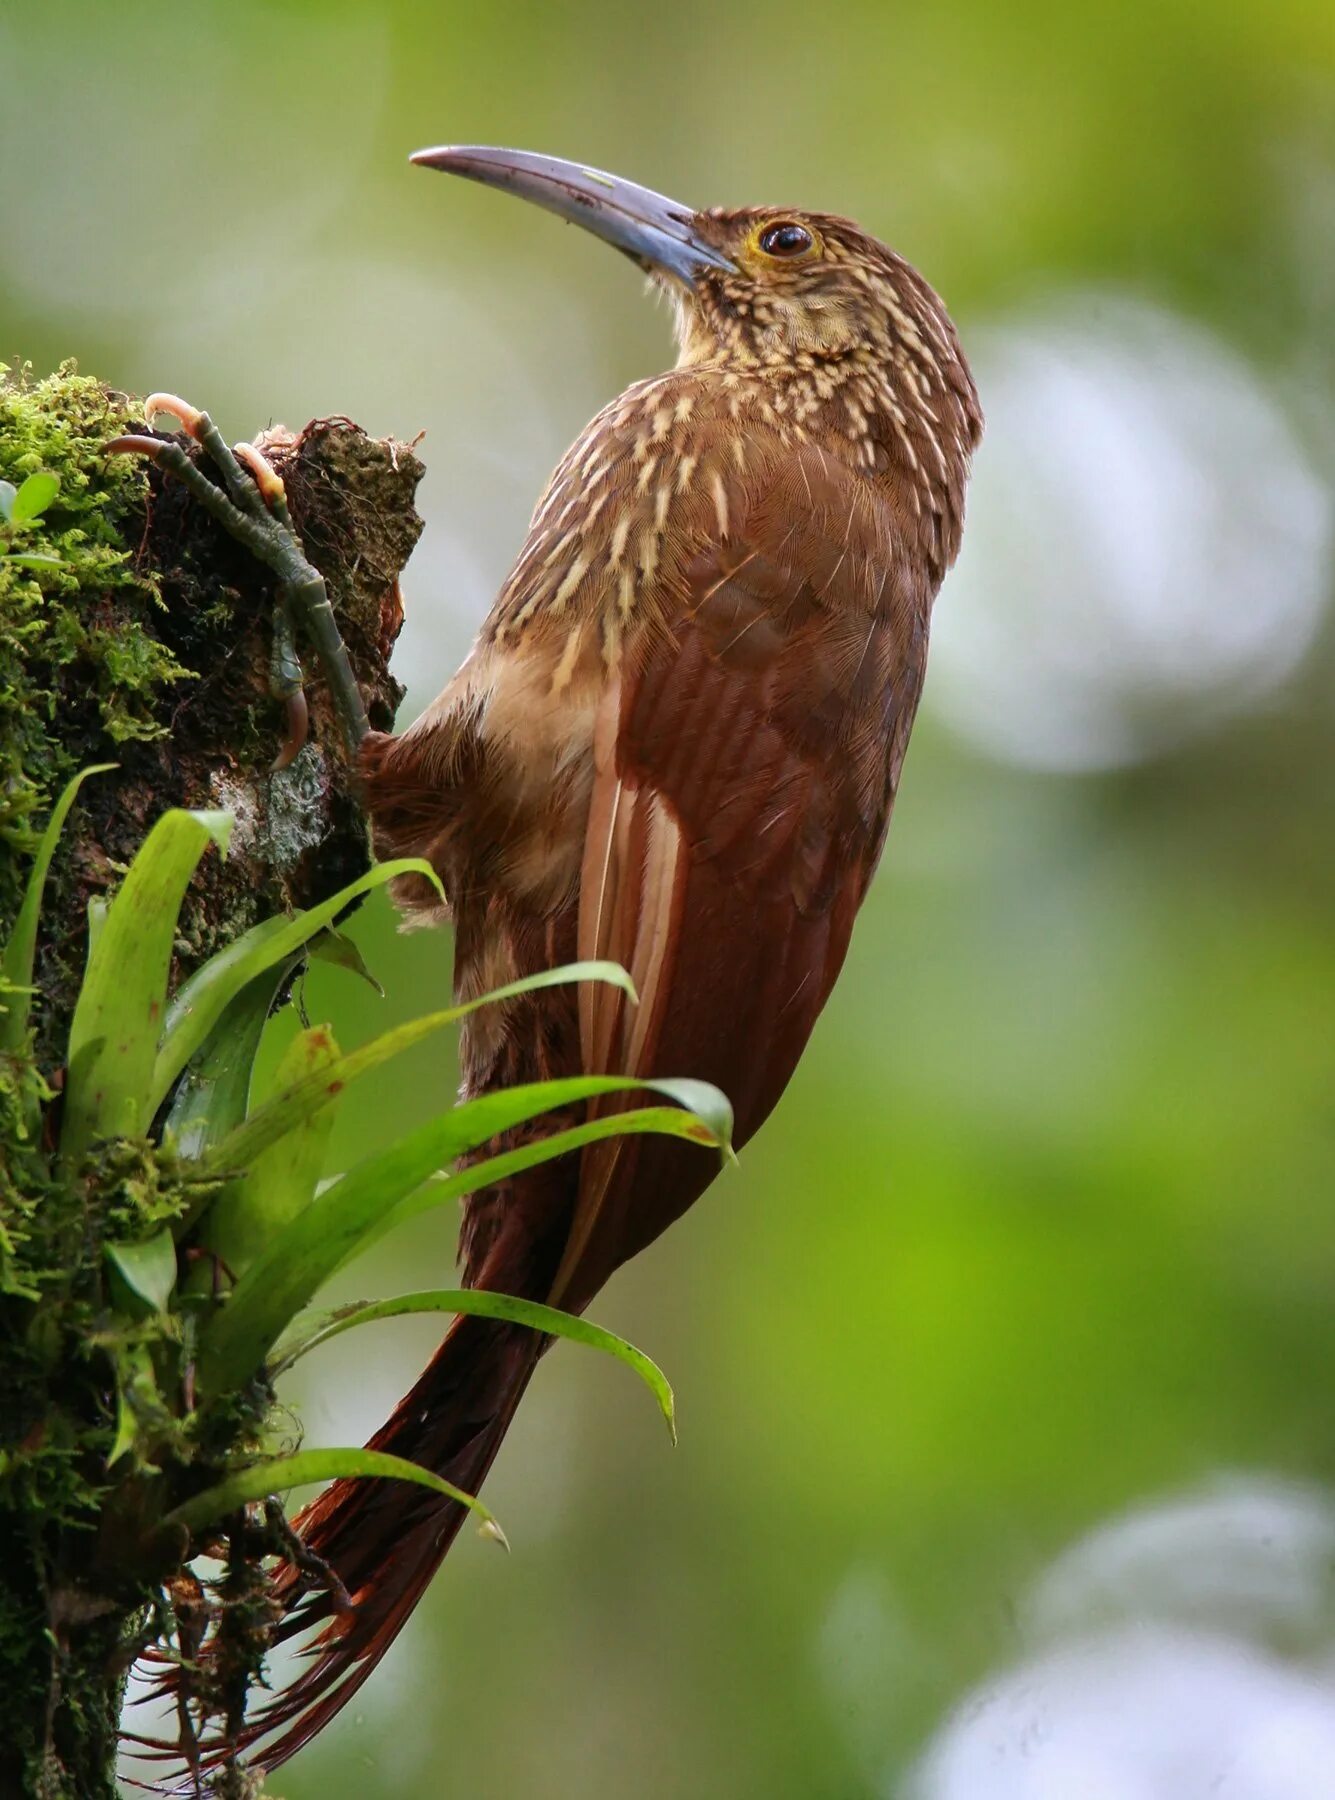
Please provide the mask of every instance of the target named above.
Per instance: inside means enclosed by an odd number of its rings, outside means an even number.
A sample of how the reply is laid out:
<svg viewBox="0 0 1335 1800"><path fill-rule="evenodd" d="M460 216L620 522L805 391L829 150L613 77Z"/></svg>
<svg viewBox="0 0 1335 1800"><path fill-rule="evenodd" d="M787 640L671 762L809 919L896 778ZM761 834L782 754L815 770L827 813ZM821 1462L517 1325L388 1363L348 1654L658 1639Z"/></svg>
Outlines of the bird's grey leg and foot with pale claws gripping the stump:
<svg viewBox="0 0 1335 1800"><path fill-rule="evenodd" d="M167 412L193 437L209 461L221 472L227 491L185 455L180 445L160 437L128 436L113 439L110 455L146 455L158 468L175 475L189 488L200 506L212 513L218 524L266 563L279 580L279 598L273 610L273 653L270 659L270 691L288 709L288 736L279 751L275 769L286 769L306 742L309 713L302 691L300 661L297 657L297 626L306 630L320 659L329 691L342 725L349 754L356 751L371 729L362 693L347 661L347 648L338 635L338 625L329 605L329 594L320 571L306 558L297 529L288 513L288 495L282 479L254 445L228 448L207 412L200 412L175 394L149 394L144 414Z"/></svg>

